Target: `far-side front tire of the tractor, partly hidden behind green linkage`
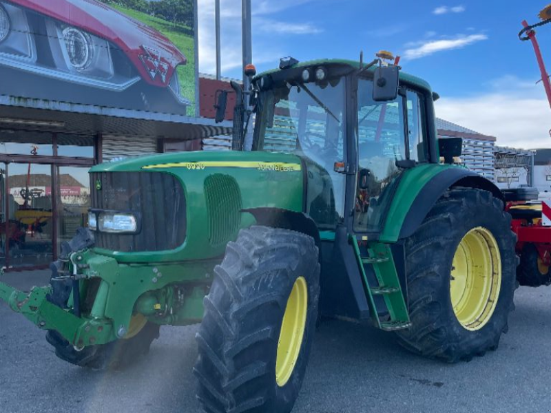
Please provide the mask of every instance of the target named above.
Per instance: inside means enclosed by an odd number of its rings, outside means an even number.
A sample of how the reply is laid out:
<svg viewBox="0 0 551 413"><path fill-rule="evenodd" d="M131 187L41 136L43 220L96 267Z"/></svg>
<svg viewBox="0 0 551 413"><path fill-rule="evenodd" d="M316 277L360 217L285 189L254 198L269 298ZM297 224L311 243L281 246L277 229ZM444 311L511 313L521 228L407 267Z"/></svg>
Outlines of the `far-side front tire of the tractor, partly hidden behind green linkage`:
<svg viewBox="0 0 551 413"><path fill-rule="evenodd" d="M88 229L79 228L70 242L62 244L61 259L67 260L70 253L92 248L93 246L94 235L92 232ZM59 277L61 268L63 268L61 260L52 262L50 265L52 291L48 299L53 304L65 308L72 285L70 280ZM67 361L67 363L94 370L104 368L121 370L135 363L137 359L149 352L152 342L159 337L159 328L158 324L147 321L141 315L135 315L130 321L127 336L111 343L87 346L77 350L55 330L49 330L46 333L46 341L54 347L56 356L63 361Z"/></svg>

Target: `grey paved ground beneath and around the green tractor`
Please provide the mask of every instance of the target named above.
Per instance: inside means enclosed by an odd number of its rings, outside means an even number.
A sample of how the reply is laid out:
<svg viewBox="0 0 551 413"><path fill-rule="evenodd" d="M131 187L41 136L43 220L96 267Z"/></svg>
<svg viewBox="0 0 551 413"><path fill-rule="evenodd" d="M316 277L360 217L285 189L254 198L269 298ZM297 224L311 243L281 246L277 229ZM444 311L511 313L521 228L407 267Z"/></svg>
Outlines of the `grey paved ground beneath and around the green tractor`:
<svg viewBox="0 0 551 413"><path fill-rule="evenodd" d="M5 279L23 287L47 273ZM455 365L415 357L391 334L327 321L293 413L549 412L551 288L520 288L515 302L497 352ZM196 330L163 327L133 368L91 372L56 359L44 332L0 304L0 412L200 412Z"/></svg>

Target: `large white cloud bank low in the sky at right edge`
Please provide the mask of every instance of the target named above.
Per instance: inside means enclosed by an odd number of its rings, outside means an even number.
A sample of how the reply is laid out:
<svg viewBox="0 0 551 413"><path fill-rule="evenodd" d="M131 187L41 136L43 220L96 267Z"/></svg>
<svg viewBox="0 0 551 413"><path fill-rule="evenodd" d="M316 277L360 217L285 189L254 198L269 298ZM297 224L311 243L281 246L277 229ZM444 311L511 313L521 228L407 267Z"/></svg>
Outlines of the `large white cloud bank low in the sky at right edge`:
<svg viewBox="0 0 551 413"><path fill-rule="evenodd" d="M551 148L549 103L541 83L504 76L490 90L468 98L442 97L436 115L481 134L497 137L497 145Z"/></svg>

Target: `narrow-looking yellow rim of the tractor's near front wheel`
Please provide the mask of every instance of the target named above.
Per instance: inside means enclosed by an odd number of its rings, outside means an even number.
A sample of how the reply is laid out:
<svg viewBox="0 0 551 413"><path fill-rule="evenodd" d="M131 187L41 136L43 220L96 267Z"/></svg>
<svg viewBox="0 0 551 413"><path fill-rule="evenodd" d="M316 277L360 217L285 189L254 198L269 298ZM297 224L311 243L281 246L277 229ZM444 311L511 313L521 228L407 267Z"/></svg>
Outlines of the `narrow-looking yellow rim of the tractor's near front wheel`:
<svg viewBox="0 0 551 413"><path fill-rule="evenodd" d="M304 277L298 277L287 300L281 324L278 355L275 361L275 381L283 387L291 378L297 363L308 308L308 287Z"/></svg>

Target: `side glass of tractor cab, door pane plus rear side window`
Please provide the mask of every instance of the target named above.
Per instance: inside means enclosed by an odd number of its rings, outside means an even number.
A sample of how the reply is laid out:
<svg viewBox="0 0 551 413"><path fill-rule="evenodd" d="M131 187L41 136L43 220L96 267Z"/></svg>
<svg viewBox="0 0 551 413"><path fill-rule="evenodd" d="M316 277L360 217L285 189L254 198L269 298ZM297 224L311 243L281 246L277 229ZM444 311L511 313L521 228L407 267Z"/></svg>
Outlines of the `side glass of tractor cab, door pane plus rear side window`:
<svg viewBox="0 0 551 413"><path fill-rule="evenodd" d="M400 87L395 100L375 102L373 82L357 88L355 233L380 233L402 173L428 160L424 96Z"/></svg>

